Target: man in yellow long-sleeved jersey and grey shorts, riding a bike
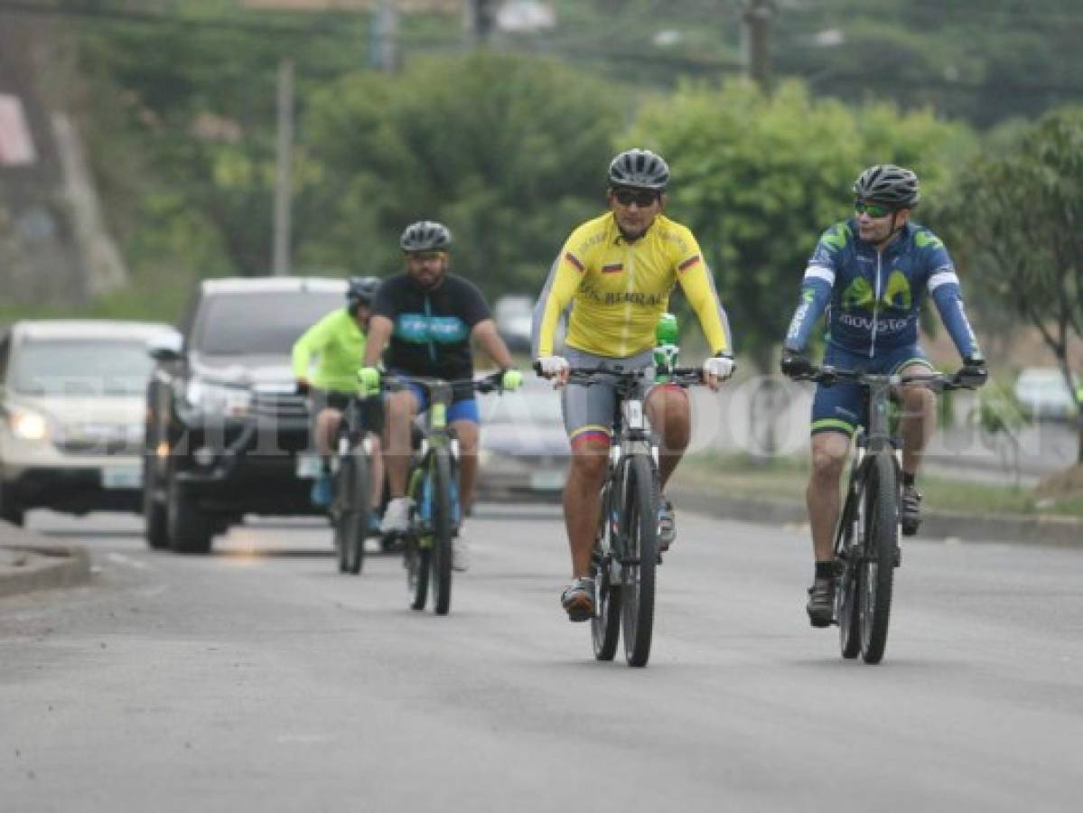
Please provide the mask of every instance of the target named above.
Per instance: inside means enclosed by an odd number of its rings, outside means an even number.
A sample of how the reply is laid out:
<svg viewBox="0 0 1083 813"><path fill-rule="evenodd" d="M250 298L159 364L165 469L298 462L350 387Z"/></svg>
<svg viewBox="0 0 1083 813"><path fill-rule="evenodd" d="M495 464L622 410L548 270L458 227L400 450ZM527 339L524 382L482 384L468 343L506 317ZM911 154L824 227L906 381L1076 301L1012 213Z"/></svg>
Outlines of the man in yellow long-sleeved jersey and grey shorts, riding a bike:
<svg viewBox="0 0 1083 813"><path fill-rule="evenodd" d="M609 169L609 211L572 232L553 263L534 312L534 357L542 375L558 386L570 367L640 369L652 364L654 327L679 284L700 319L713 355L703 363L713 389L733 375L726 313L695 237L666 218L669 168L647 149L617 155ZM571 305L564 355L554 355L561 314ZM564 425L572 467L564 488L564 521L572 552L572 583L561 603L573 621L595 612L590 552L601 510L601 486L612 438L613 388L564 386ZM661 435L658 469L663 487L691 434L688 394L679 386L651 389L645 399L651 425ZM675 538L673 503L663 495L658 542Z"/></svg>

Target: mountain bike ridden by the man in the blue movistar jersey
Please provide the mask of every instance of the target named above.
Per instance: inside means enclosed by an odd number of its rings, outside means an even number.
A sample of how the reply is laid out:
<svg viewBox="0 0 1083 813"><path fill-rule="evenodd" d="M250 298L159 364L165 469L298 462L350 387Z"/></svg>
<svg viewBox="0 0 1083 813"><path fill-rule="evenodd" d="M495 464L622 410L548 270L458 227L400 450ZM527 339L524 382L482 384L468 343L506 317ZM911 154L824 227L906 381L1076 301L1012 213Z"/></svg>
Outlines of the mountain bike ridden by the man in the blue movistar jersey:
<svg viewBox="0 0 1083 813"><path fill-rule="evenodd" d="M833 622L844 658L860 653L866 664L878 664L887 646L895 568L901 564L902 438L891 434L891 392L911 383L935 392L974 388L958 373L872 375L830 366L799 378L827 386L849 380L864 391L865 420L854 433L846 501L835 526Z"/></svg>

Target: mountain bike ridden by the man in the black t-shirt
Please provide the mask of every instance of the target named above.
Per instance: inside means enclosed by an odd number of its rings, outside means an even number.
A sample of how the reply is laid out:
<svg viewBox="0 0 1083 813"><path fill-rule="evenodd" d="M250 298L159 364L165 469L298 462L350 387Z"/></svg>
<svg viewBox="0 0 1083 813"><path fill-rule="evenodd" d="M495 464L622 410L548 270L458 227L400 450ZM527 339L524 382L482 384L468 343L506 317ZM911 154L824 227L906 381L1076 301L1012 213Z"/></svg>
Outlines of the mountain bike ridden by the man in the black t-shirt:
<svg viewBox="0 0 1083 813"><path fill-rule="evenodd" d="M413 383L429 396L423 429L406 477L410 498L409 529L403 539L403 565L410 606L425 609L432 581L433 612L447 615L452 605L452 548L461 523L459 506L458 440L447 425L447 409L457 388L469 385L477 393L503 392L503 372L482 379L444 381L438 378L396 376L384 383L400 390ZM416 425L416 424L415 424Z"/></svg>

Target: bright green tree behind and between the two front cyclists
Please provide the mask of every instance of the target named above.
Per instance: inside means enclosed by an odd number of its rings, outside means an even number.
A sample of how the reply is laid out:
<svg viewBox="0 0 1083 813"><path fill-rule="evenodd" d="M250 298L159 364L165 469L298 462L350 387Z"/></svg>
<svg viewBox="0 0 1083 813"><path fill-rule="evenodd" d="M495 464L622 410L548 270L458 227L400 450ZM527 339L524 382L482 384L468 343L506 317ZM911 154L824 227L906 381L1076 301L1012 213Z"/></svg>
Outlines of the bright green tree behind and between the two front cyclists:
<svg viewBox="0 0 1083 813"><path fill-rule="evenodd" d="M927 196L942 188L969 131L890 104L850 108L798 82L766 95L751 82L686 84L647 105L624 142L670 162L670 211L707 253L740 353L767 371L820 234L850 211L871 163L914 167Z"/></svg>

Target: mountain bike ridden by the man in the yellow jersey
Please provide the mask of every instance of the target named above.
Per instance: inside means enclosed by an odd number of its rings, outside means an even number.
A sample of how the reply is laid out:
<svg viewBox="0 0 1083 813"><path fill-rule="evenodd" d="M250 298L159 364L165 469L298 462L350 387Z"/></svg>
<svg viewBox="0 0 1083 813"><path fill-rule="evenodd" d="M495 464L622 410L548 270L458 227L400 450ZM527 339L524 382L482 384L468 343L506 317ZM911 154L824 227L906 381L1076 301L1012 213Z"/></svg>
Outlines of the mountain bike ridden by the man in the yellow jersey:
<svg viewBox="0 0 1083 813"><path fill-rule="evenodd" d="M592 553L595 657L612 660L621 632L628 666L647 666L654 630L654 593L662 484L657 447L643 412L651 370L572 368L569 383L609 384L616 391L613 443L602 485L602 511ZM702 383L699 368L675 368L667 383Z"/></svg>

